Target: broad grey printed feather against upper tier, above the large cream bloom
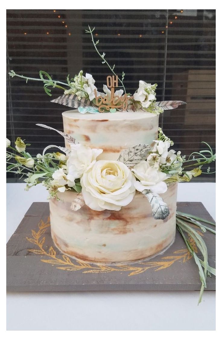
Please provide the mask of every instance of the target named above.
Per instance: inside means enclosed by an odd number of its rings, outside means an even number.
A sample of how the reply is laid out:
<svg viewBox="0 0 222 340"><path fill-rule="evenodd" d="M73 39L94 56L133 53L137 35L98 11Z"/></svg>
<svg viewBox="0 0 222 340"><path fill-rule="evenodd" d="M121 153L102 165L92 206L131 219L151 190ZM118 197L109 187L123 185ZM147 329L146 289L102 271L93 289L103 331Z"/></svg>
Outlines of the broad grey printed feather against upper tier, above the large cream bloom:
<svg viewBox="0 0 222 340"><path fill-rule="evenodd" d="M127 167L133 167L134 165L147 158L150 146L148 144L133 145L121 152L119 162L124 163Z"/></svg>

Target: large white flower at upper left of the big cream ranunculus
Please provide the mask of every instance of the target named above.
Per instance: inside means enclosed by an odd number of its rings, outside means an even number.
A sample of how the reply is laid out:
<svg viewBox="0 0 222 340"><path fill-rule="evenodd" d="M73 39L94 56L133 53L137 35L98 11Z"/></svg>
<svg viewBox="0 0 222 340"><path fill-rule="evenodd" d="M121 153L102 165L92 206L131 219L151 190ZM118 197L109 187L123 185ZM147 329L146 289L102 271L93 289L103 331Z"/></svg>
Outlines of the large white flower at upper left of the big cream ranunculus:
<svg viewBox="0 0 222 340"><path fill-rule="evenodd" d="M96 162L96 157L102 153L102 149L91 149L82 144L71 144L71 152L66 162L67 179L73 181L82 176L84 171Z"/></svg>

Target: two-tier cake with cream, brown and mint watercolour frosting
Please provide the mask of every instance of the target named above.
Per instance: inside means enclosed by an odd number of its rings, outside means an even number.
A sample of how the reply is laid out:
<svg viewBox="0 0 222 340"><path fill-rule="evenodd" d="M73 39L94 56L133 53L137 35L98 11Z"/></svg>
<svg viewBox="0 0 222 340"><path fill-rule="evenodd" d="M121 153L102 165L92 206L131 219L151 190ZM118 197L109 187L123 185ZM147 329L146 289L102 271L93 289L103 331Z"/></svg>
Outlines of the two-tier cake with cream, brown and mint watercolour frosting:
<svg viewBox="0 0 222 340"><path fill-rule="evenodd" d="M97 159L117 160L120 153L139 143L153 146L158 138L159 116L146 112L84 114L63 112L64 132L90 148L103 149ZM70 148L66 143L66 147ZM145 195L136 192L119 211L92 210L84 205L70 209L76 193L65 191L50 199L51 234L65 254L86 261L126 262L154 256L174 241L177 184L161 196L170 215L155 220Z"/></svg>

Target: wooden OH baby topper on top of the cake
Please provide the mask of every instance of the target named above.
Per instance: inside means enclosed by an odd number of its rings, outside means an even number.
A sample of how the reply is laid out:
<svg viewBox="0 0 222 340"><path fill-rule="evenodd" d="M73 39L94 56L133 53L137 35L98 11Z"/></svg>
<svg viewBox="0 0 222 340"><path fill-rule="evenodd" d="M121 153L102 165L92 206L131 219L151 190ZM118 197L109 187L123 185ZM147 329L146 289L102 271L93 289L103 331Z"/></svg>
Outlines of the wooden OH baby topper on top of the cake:
<svg viewBox="0 0 222 340"><path fill-rule="evenodd" d="M106 95L105 97L98 96L96 94L96 89L94 90L96 106L99 107L99 112L104 112L105 110L109 111L110 109L122 108L123 111L126 111L128 100L132 97L127 97L125 93L124 96L114 96L114 88L118 87L118 77L117 75L108 75L107 77L107 87L111 89L111 97Z"/></svg>

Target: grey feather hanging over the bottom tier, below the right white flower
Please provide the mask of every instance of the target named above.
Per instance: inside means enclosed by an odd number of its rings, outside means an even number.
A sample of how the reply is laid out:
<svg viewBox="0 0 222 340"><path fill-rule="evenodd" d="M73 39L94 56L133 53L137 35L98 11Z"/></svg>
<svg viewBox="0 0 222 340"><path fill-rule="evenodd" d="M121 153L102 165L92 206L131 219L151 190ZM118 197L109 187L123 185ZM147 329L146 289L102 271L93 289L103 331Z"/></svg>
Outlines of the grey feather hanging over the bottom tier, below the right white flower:
<svg viewBox="0 0 222 340"><path fill-rule="evenodd" d="M143 190L142 193L146 196L152 207L155 220L165 220L165 218L170 215L168 206L157 193L150 190Z"/></svg>

